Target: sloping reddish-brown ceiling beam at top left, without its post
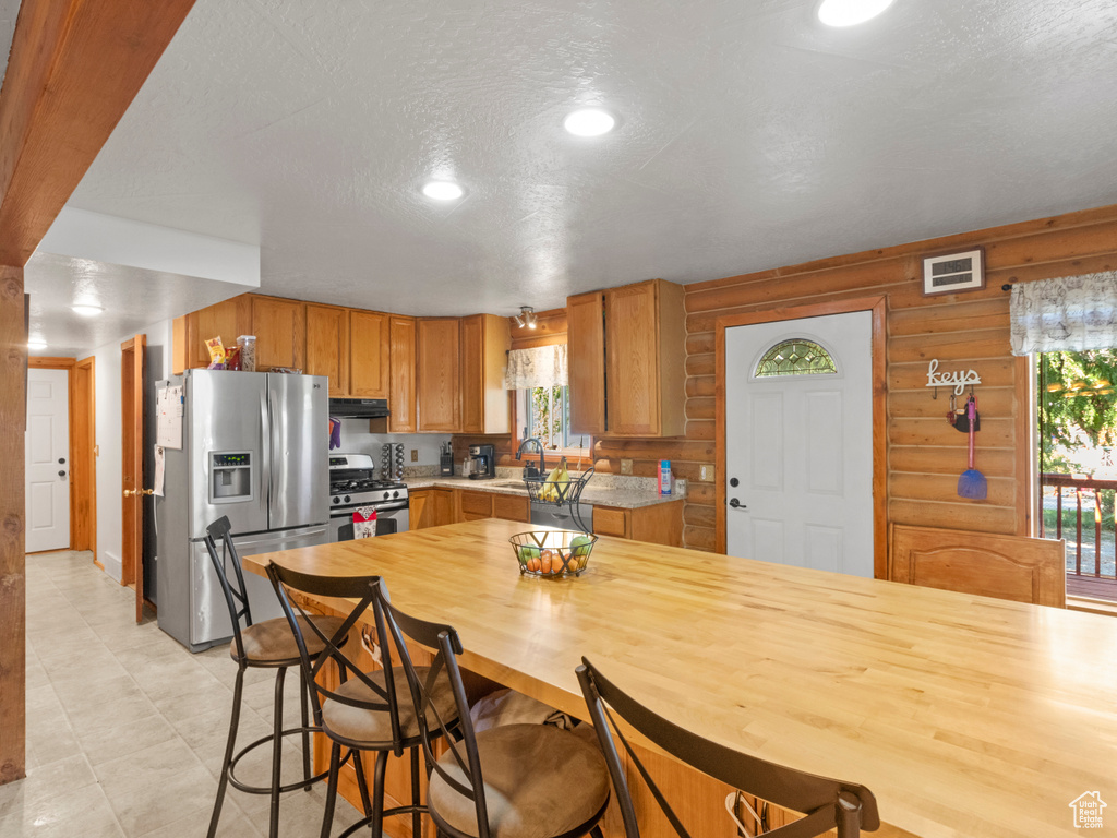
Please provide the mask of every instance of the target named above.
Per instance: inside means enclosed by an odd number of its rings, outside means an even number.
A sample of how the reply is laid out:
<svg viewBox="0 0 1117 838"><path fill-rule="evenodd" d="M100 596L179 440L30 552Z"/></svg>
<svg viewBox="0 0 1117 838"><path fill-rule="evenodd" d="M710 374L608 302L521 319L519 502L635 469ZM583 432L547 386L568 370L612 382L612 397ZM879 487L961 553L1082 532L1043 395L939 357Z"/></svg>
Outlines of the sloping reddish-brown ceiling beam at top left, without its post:
<svg viewBox="0 0 1117 838"><path fill-rule="evenodd" d="M23 0L0 89L0 265L22 266L194 0Z"/></svg>

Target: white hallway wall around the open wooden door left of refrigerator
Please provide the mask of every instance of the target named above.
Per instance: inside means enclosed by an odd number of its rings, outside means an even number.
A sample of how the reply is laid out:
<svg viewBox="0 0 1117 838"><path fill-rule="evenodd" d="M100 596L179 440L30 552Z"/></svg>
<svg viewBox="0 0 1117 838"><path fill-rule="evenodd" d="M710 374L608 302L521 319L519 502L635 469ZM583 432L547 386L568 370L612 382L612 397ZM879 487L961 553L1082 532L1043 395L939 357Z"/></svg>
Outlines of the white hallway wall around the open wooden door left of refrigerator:
<svg viewBox="0 0 1117 838"><path fill-rule="evenodd" d="M143 330L147 335L147 382L171 374L171 321L160 321ZM123 552L123 453L121 446L121 343L132 335L98 346L94 352L97 410L97 559L113 579L121 579ZM144 398L154 398L150 385Z"/></svg>

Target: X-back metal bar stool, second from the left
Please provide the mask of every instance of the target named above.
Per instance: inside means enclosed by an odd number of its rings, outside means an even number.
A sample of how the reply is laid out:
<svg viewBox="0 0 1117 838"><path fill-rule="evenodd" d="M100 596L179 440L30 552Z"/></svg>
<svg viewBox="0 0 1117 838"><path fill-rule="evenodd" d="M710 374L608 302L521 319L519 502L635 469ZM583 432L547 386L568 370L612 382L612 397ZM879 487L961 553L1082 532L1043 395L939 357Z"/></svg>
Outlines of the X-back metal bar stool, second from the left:
<svg viewBox="0 0 1117 838"><path fill-rule="evenodd" d="M426 724L416 721L414 703L407 692L408 678L401 670L393 669L388 658L384 659L383 669L363 673L342 650L346 634L364 621L380 578L318 577L288 570L275 563L268 565L268 578L275 585L298 642L304 677L314 685L311 691L314 722L331 741L330 781L322 838L330 838L333 829L338 773L351 756L356 769L364 818L347 827L341 834L342 838L364 827L371 827L373 836L381 836L384 818L394 815L410 815L411 834L422 835L421 813L426 808L419 799L419 745L420 730L426 730ZM312 597L355 600L356 604L344 620L338 620L336 629L327 634L319 630L312 616L303 610L297 599L288 594L288 590L302 591ZM384 637L381 627L378 627L378 632L380 637ZM331 674L323 672L331 661L337 667L336 686ZM424 677L426 669L420 672ZM430 694L432 707L440 717L449 720L448 726L452 727L457 720L457 708L449 682L445 677L435 679ZM347 749L344 759L341 754L343 747ZM361 758L361 753L365 751L376 754L371 796ZM388 755L391 753L402 756L404 751L411 752L411 803L385 810L384 770Z"/></svg>

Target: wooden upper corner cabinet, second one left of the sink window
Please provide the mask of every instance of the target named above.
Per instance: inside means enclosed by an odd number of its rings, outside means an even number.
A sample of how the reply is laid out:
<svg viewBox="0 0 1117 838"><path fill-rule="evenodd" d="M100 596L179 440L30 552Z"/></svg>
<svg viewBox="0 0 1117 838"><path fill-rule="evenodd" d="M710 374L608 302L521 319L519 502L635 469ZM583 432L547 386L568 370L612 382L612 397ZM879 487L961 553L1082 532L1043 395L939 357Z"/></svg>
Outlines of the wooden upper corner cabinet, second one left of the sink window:
<svg viewBox="0 0 1117 838"><path fill-rule="evenodd" d="M461 427L460 323L456 317L416 321L418 430L455 434Z"/></svg>

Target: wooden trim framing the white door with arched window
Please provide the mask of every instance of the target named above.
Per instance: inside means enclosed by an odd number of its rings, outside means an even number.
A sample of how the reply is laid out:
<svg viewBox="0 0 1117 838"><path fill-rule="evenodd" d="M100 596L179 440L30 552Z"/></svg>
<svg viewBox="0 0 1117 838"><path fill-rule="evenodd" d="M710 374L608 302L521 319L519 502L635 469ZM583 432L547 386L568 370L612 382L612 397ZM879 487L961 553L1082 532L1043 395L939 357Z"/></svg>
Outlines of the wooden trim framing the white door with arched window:
<svg viewBox="0 0 1117 838"><path fill-rule="evenodd" d="M718 553L726 552L725 533L725 330L828 314L870 312L872 314L872 575L888 575L888 384L885 366L885 297L871 296L814 303L789 308L766 308L746 314L723 315L715 321L715 396L717 425L714 446L717 456L715 515Z"/></svg>

